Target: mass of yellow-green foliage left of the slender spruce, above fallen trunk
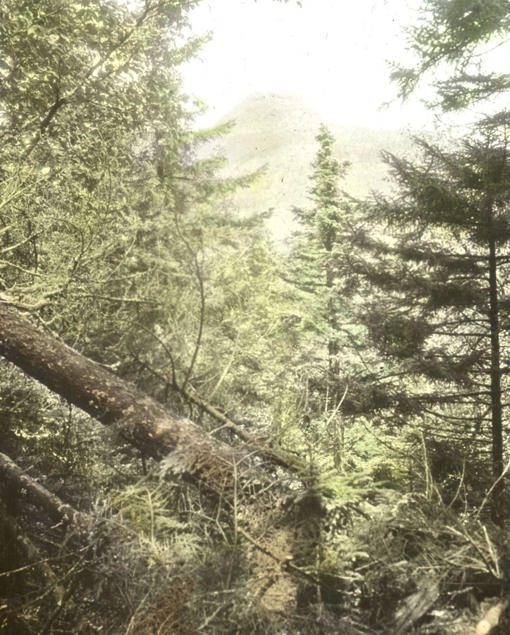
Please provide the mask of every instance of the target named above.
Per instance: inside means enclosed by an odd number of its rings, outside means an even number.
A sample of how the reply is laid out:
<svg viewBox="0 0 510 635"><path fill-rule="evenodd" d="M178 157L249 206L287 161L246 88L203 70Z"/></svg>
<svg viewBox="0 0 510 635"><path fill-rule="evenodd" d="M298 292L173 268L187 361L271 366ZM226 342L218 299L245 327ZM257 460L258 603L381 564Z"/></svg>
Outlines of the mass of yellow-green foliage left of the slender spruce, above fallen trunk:
<svg viewBox="0 0 510 635"><path fill-rule="evenodd" d="M246 380L269 383L253 368L283 332L279 309L267 311L281 293L269 285L255 300L251 281L276 275L272 256L260 219L224 202L256 175L222 180L223 159L196 159L231 126L188 130L175 69L200 44L181 37L194 4L4 6L4 58L27 85L4 77L1 273L14 304L123 375L138 373L143 351L181 382L201 377L211 398L223 371L244 373L239 384L257 394ZM8 37L25 22L41 29Z"/></svg>

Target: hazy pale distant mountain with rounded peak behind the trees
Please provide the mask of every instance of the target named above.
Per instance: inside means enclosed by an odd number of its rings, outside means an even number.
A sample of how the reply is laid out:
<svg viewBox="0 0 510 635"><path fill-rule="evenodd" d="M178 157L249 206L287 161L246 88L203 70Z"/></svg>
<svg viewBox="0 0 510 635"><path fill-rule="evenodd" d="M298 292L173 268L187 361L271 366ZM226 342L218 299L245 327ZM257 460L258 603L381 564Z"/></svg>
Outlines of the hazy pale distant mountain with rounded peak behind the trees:
<svg viewBox="0 0 510 635"><path fill-rule="evenodd" d="M234 130L215 144L229 160L228 175L246 174L264 165L267 168L256 185L236 195L236 204L248 212L273 208L268 226L280 244L295 226L292 207L309 204L310 163L318 149L315 137L321 123L337 139L339 159L351 161L342 187L353 196L389 189L380 150L399 156L412 154L408 133L332 124L295 93L253 93L220 123L231 120L236 122Z"/></svg>

